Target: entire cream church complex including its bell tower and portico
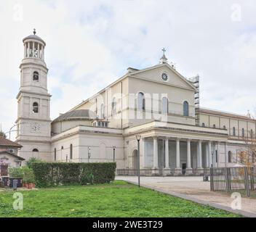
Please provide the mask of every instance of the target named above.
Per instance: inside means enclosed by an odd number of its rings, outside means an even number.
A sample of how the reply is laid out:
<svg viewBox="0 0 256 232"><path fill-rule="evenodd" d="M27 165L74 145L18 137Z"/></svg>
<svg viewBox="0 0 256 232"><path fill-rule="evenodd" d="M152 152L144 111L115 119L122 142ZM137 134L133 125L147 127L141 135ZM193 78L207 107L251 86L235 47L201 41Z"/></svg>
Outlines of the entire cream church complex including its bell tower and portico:
<svg viewBox="0 0 256 232"><path fill-rule="evenodd" d="M165 54L152 67L129 67L50 120L46 43L34 32L23 45L16 121L20 157L116 162L120 175L136 174L140 160L142 175L201 175L209 167L238 165L239 152L255 139L256 120L249 114L199 107L199 77L183 77Z"/></svg>

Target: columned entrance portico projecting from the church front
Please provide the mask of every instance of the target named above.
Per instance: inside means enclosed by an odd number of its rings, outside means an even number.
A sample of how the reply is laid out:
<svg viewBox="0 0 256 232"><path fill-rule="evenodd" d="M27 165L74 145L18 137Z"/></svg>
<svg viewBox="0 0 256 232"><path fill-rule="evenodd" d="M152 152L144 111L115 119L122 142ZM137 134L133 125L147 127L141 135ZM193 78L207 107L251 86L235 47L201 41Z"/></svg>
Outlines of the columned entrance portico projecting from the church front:
<svg viewBox="0 0 256 232"><path fill-rule="evenodd" d="M215 155L218 154L217 148L225 145L225 131L218 131L223 132L223 135L217 136L215 131L211 131L214 129L205 131L206 128L191 127L193 130L183 131L175 123L167 123L164 128L159 128L159 122L146 124L148 130L144 125L143 133L140 132L143 138L140 169L145 170L145 173L204 175L209 172L209 167L223 165L217 161Z"/></svg>

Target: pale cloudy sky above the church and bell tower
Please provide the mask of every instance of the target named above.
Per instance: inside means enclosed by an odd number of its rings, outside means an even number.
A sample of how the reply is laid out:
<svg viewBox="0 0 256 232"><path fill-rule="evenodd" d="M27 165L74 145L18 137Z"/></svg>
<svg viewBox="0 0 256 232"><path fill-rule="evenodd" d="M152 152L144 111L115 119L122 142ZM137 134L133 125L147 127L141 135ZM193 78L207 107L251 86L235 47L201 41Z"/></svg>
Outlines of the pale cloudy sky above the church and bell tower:
<svg viewBox="0 0 256 232"><path fill-rule="evenodd" d="M17 119L22 39L46 41L51 119L127 72L169 62L200 76L200 105L256 113L256 2L1 0L0 123ZM12 138L15 138L15 136Z"/></svg>

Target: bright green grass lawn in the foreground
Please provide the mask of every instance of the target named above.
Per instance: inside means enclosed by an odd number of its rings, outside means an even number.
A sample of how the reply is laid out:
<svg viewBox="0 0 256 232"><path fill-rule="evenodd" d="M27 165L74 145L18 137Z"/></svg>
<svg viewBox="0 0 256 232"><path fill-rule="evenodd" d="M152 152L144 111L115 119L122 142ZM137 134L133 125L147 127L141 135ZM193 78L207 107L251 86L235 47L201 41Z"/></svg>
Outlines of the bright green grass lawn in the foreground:
<svg viewBox="0 0 256 232"><path fill-rule="evenodd" d="M0 192L0 217L239 217L124 181L20 192L23 210L12 209L13 191Z"/></svg>

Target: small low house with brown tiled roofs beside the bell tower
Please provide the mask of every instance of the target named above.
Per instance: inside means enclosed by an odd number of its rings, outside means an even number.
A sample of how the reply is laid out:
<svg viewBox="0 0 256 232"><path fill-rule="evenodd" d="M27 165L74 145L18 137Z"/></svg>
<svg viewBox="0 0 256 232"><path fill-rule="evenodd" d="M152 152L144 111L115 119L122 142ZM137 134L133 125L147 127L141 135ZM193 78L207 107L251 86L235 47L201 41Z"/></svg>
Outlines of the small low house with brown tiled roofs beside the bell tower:
<svg viewBox="0 0 256 232"><path fill-rule="evenodd" d="M20 144L0 137L0 166L20 167L25 160L17 155L17 150L21 147Z"/></svg>

